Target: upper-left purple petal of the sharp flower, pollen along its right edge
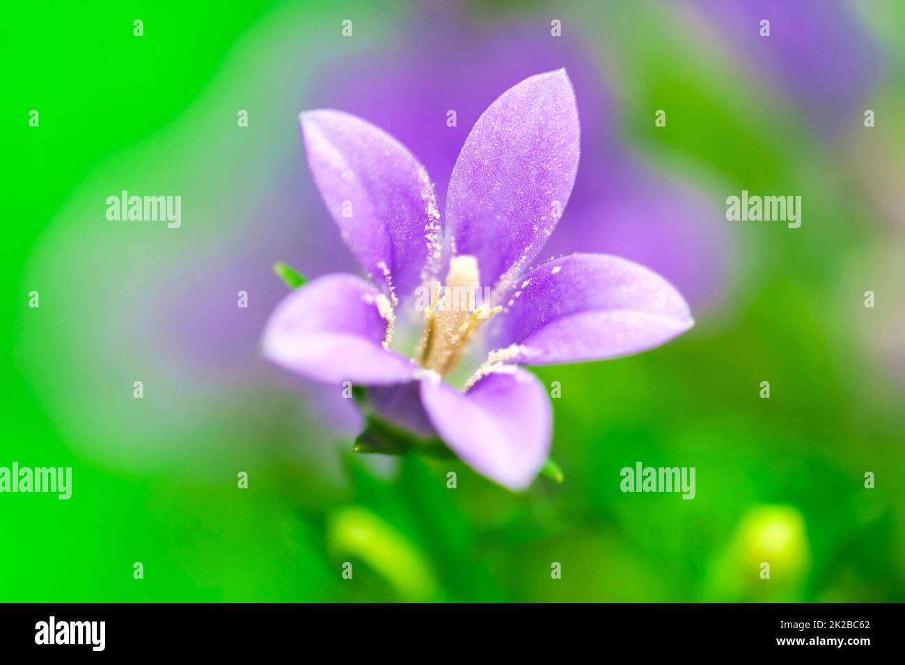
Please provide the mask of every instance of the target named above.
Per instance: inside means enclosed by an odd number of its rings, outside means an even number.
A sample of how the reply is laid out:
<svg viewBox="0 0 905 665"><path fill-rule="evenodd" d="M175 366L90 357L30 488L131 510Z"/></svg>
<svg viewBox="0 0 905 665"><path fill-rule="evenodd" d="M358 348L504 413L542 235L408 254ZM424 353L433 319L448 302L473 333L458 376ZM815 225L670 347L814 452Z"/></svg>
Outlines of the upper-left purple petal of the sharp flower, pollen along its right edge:
<svg viewBox="0 0 905 665"><path fill-rule="evenodd" d="M300 115L311 175L349 249L386 295L433 277L440 211L424 166L395 138L336 110Z"/></svg>

